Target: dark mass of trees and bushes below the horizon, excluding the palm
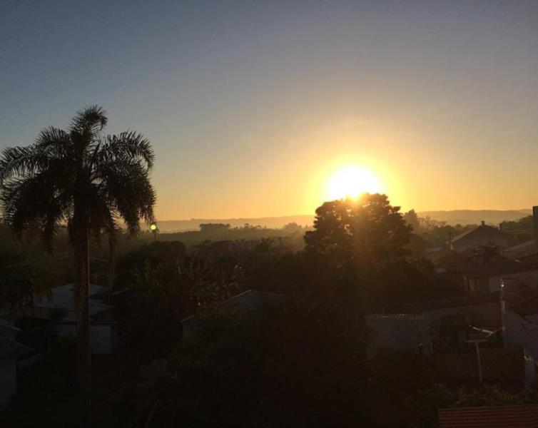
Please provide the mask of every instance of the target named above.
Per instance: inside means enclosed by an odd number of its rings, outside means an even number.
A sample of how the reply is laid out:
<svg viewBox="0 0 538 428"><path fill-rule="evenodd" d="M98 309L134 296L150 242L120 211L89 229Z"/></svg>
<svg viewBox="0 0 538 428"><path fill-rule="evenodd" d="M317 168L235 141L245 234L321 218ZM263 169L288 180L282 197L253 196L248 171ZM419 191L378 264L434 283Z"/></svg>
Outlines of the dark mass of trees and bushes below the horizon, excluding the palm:
<svg viewBox="0 0 538 428"><path fill-rule="evenodd" d="M366 195L325 203L306 233L293 226L304 235L302 250L283 247L278 233L248 245L120 233L112 270L108 247L92 241L91 282L111 286L125 340L112 355L93 357L91 424L432 427L439 407L537 402L535 392L498 385L448 387L415 350L367 359L365 314L457 294L423 257L445 228ZM6 225L0 233L8 311L72 280L66 233L59 231L54 256L37 242L11 240ZM220 309L249 289L278 297L256 310ZM182 340L181 320L195 313L196 335ZM45 362L22 370L0 423L76 426L74 356L74 340L64 338Z"/></svg>

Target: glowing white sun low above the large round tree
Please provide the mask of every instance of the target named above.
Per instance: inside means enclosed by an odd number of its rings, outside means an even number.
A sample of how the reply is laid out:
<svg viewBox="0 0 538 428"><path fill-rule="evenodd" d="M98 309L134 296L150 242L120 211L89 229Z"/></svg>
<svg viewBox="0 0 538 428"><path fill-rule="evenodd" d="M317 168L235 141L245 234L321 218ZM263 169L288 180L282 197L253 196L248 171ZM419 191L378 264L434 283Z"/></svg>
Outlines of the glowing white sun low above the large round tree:
<svg viewBox="0 0 538 428"><path fill-rule="evenodd" d="M327 193L330 200L357 198L362 193L379 193L380 182L369 170L359 165L338 169L329 179Z"/></svg>

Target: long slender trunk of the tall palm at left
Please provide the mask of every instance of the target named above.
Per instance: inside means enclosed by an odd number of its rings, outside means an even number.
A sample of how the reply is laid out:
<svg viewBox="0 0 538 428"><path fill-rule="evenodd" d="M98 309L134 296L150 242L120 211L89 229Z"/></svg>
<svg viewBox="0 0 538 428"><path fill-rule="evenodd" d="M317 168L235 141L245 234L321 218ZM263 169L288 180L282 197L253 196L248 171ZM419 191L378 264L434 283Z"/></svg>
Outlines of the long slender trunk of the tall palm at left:
<svg viewBox="0 0 538 428"><path fill-rule="evenodd" d="M88 218L84 210L78 210L77 213L76 208L73 216L73 250L75 262L77 382L85 402L85 410L88 412L91 387Z"/></svg>

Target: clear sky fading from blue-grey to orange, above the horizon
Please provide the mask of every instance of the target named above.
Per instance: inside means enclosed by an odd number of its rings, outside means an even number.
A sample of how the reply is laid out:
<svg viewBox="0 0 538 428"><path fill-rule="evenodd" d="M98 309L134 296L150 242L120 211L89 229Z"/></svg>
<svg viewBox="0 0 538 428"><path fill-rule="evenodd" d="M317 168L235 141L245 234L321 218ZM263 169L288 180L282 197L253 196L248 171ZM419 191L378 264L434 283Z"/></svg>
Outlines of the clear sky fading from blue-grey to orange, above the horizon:
<svg viewBox="0 0 538 428"><path fill-rule="evenodd" d="M153 143L160 220L538 205L538 1L0 0L0 149L83 106Z"/></svg>

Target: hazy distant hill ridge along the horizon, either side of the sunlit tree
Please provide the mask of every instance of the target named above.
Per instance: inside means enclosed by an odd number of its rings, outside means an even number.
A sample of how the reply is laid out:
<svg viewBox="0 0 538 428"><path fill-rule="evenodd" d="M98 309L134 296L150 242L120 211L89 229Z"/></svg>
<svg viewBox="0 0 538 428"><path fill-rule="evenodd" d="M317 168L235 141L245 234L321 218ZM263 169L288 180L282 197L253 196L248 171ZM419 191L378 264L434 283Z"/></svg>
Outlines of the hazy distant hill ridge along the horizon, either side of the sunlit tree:
<svg viewBox="0 0 538 428"><path fill-rule="evenodd" d="M430 217L433 220L445 221L449 225L479 224L484 220L486 223L498 224L504 220L514 221L532 214L532 210L448 210L448 211L420 211L419 217ZM263 228L282 228L288 223L298 225L312 225L313 215L285 215L282 217L261 218L191 218L191 220L162 220L158 222L161 233L182 232L186 230L198 230L200 223L227 223L232 228L249 224Z"/></svg>

